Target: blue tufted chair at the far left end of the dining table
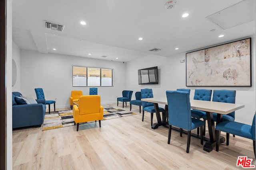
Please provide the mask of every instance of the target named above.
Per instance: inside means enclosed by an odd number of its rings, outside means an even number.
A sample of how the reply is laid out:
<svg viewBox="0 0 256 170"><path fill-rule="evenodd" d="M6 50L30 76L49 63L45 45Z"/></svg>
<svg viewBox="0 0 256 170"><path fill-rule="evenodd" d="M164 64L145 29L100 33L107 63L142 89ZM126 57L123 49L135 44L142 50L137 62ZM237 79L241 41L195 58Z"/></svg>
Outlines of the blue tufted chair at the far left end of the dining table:
<svg viewBox="0 0 256 170"><path fill-rule="evenodd" d="M141 98L153 98L153 91L151 88L144 88L140 90ZM144 111L147 111L151 115L151 126L153 125L153 114L155 111L155 106L151 102L142 101L142 121L144 121ZM159 107L159 111L164 113L164 108Z"/></svg>

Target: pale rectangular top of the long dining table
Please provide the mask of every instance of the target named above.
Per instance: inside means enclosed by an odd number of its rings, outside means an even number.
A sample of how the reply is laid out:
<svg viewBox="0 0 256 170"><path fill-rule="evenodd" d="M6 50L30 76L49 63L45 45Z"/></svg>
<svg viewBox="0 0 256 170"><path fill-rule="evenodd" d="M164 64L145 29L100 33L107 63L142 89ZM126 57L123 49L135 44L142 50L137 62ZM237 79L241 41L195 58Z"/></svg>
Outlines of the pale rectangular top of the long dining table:
<svg viewBox="0 0 256 170"><path fill-rule="evenodd" d="M166 97L144 98L141 100L145 102L168 105ZM232 111L236 111L244 107L244 105L242 104L212 102L212 101L204 101L204 100L190 100L190 106L191 106L191 109L198 109L202 111L209 111L212 113L220 113L225 115L228 113L231 113Z"/></svg>

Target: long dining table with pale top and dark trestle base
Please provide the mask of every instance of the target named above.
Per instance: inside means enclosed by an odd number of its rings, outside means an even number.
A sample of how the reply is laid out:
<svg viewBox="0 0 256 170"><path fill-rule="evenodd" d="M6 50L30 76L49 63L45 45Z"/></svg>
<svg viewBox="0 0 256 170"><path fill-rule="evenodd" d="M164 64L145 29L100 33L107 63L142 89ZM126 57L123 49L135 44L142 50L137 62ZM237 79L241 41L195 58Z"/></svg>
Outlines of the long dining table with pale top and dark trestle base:
<svg viewBox="0 0 256 170"><path fill-rule="evenodd" d="M159 126L169 127L168 123L168 102L166 97L156 97L156 98L143 98L141 99L145 102L154 103L157 123L152 125L152 129L157 129ZM164 104L164 112L162 113L162 119L159 111L158 104ZM216 123L222 121L222 115L226 115L238 109L244 107L243 104L232 104L232 103L224 103L224 102L212 102L212 101L204 101L204 100L190 100L191 109L202 110L206 112L207 123L208 123L208 131L209 138L204 137L206 143L204 144L204 150L207 152L211 152L213 148L216 146L216 133L215 133L215 125L212 113L217 113ZM177 129L177 128L176 128ZM192 134L194 137L200 137L199 135ZM220 142L225 142L225 138L221 137Z"/></svg>

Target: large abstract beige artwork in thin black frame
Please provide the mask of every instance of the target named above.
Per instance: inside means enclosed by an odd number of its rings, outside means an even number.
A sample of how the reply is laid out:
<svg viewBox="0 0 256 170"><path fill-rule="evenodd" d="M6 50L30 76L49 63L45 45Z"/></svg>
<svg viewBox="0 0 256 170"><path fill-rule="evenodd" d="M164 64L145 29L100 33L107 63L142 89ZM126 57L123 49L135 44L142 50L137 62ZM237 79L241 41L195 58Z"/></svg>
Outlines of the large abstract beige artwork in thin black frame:
<svg viewBox="0 0 256 170"><path fill-rule="evenodd" d="M251 38L186 53L186 86L252 86Z"/></svg>

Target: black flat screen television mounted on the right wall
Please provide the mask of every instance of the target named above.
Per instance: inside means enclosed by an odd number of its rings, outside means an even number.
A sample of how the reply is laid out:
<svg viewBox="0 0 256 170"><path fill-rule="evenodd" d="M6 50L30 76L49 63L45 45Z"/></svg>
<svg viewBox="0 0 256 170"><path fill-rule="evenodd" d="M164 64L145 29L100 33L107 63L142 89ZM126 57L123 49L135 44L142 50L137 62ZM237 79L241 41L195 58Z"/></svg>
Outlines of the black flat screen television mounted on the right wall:
<svg viewBox="0 0 256 170"><path fill-rule="evenodd" d="M158 84L158 69L156 67L138 70L139 84Z"/></svg>

